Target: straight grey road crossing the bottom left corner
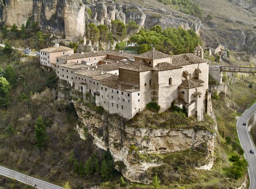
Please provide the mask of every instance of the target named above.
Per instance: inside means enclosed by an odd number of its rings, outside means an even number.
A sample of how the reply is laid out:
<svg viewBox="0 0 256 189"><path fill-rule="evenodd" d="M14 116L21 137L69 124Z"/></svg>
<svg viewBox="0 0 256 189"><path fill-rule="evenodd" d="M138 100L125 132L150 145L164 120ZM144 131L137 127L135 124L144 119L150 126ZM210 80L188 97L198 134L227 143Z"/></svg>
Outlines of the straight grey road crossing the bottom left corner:
<svg viewBox="0 0 256 189"><path fill-rule="evenodd" d="M61 186L57 186L51 183L47 183L45 181L41 181L37 178L30 177L28 175L23 175L19 172L13 171L11 169L7 169L3 166L0 166L0 175L14 178L17 181L28 184L30 186L34 186L36 184L36 188L38 189L63 189Z"/></svg>

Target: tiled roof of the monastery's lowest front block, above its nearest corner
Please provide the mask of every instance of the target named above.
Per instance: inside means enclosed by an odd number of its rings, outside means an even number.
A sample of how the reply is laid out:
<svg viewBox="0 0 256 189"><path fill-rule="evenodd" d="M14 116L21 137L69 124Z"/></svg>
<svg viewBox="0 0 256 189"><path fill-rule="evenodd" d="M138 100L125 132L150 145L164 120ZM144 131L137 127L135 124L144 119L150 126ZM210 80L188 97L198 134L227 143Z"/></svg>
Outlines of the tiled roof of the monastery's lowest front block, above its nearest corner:
<svg viewBox="0 0 256 189"><path fill-rule="evenodd" d="M113 80L108 81L108 82L103 82L101 84L106 85L106 86L111 87L111 88L114 88L114 89L124 90L124 91L131 92L131 93L140 91L138 87L134 87L133 85L120 83L118 77L117 77L117 79L113 79Z"/></svg>

